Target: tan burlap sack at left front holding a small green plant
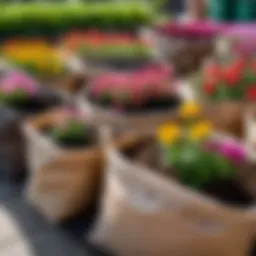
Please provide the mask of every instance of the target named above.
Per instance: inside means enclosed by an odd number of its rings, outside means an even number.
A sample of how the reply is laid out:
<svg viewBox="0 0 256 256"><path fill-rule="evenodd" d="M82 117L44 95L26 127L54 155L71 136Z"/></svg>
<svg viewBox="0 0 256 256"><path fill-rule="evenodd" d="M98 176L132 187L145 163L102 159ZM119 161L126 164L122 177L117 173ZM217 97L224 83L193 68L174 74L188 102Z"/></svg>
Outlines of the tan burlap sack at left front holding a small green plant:
<svg viewBox="0 0 256 256"><path fill-rule="evenodd" d="M39 115L23 127L30 171L25 196L51 222L66 220L96 202L104 165L99 141L88 148L64 149L42 133L63 118L62 113ZM116 143L124 145L121 137Z"/></svg>

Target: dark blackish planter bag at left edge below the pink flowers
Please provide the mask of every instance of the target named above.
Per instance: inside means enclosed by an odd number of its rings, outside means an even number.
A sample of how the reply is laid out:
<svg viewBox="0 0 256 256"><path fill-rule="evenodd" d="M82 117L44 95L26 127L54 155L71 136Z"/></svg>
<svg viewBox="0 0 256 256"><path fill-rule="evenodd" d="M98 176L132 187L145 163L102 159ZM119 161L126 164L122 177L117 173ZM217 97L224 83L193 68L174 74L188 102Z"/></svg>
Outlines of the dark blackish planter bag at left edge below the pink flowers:
<svg viewBox="0 0 256 256"><path fill-rule="evenodd" d="M40 111L59 103L59 99L50 92L42 93L39 101L44 103L44 107ZM26 173L25 144L21 124L25 118L37 113L37 111L31 109L31 112L21 112L0 106L0 113L1 171L6 172L11 180L16 180Z"/></svg>

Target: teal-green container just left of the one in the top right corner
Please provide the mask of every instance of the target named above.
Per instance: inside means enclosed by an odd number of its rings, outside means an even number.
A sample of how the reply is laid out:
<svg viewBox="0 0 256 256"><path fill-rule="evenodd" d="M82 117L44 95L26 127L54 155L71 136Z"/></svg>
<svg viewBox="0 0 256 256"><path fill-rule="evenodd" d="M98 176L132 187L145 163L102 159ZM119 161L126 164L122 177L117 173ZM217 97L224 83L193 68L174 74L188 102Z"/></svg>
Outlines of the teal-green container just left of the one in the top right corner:
<svg viewBox="0 0 256 256"><path fill-rule="evenodd" d="M237 1L239 0L208 0L210 16L217 21L234 21Z"/></svg>

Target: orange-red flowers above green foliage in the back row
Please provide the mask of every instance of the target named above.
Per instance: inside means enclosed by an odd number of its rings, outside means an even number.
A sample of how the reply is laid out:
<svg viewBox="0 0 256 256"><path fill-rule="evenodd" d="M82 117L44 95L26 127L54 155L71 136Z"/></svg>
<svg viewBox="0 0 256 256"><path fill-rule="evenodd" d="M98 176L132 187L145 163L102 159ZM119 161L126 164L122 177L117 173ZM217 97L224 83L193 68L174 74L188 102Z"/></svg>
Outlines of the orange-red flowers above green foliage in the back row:
<svg viewBox="0 0 256 256"><path fill-rule="evenodd" d="M151 59L146 42L125 33L70 33L62 42L89 66L107 68L132 68L147 64Z"/></svg>

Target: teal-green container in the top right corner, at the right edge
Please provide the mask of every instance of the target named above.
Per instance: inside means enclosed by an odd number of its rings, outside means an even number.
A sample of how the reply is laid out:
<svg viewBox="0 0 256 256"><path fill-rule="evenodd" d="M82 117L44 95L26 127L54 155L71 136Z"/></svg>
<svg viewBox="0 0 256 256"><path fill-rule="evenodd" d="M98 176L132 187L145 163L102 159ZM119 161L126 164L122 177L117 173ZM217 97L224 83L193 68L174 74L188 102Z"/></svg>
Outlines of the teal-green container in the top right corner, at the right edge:
<svg viewBox="0 0 256 256"><path fill-rule="evenodd" d="M252 21L256 18L256 0L237 0L236 21Z"/></svg>

